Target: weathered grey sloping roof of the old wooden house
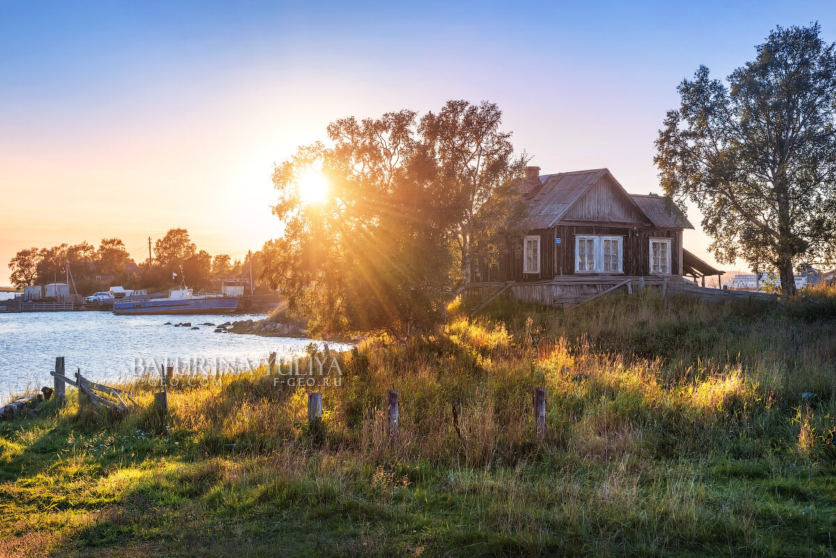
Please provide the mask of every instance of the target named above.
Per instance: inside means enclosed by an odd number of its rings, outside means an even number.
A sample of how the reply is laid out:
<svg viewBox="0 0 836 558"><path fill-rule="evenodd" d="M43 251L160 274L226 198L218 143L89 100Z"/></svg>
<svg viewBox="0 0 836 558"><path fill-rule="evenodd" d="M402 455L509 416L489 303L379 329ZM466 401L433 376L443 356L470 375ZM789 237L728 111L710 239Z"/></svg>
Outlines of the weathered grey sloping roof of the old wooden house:
<svg viewBox="0 0 836 558"><path fill-rule="evenodd" d="M572 205L601 177L609 175L615 185L654 226L687 228L694 226L670 198L659 195L628 194L608 169L575 170L540 175L540 185L525 194L528 198L528 221L533 229L548 229L557 223Z"/></svg>

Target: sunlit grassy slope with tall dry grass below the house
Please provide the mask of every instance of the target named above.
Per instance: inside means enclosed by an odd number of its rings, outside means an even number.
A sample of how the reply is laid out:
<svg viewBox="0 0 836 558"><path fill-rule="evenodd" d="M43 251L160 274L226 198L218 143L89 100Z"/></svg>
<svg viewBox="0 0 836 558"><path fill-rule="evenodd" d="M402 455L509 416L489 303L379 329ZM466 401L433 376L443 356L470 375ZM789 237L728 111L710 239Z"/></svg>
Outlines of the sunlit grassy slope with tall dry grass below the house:
<svg viewBox="0 0 836 558"><path fill-rule="evenodd" d="M833 556L836 297L814 294L454 309L340 355L314 428L267 370L180 378L165 424L148 383L118 424L73 390L0 423L0 555Z"/></svg>

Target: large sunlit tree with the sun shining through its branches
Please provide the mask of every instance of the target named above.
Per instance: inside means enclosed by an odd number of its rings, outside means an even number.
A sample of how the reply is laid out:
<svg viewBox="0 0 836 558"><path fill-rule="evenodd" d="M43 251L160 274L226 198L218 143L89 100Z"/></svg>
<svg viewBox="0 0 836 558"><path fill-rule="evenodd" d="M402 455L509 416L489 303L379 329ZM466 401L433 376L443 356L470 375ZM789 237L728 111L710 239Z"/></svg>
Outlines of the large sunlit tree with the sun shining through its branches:
<svg viewBox="0 0 836 558"><path fill-rule="evenodd" d="M496 132L498 116L492 104L456 101L420 120L410 110L339 119L328 145L277 165L274 213L284 234L264 246L262 276L288 297L288 310L314 328L382 328L400 338L438 322L463 274L454 256L470 256L461 238L523 172L507 134ZM326 195L305 193L322 180Z"/></svg>

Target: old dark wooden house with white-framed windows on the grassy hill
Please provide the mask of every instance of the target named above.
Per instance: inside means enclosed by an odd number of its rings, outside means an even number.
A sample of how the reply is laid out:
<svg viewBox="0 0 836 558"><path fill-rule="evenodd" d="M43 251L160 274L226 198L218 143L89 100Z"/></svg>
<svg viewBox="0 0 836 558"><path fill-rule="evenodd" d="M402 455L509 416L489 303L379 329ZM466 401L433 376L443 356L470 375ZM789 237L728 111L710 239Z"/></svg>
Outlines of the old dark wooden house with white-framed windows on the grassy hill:
<svg viewBox="0 0 836 558"><path fill-rule="evenodd" d="M682 233L694 227L670 198L628 194L607 169L539 171L528 167L522 185L528 234L500 261L477 261L468 296L503 284L515 298L551 304L630 278L654 285L722 273L685 250Z"/></svg>

